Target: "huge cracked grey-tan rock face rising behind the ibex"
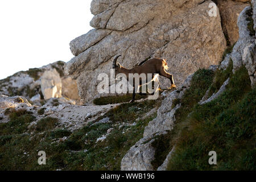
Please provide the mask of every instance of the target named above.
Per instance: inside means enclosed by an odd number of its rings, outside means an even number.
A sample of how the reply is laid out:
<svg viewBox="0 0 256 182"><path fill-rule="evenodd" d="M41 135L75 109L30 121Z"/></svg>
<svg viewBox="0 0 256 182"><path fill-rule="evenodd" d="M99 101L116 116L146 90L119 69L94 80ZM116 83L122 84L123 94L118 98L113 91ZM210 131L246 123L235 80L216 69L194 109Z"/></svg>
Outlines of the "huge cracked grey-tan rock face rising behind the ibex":
<svg viewBox="0 0 256 182"><path fill-rule="evenodd" d="M220 14L209 16L212 1L95 0L89 31L71 42L75 55L65 72L77 78L82 102L102 96L97 92L100 73L110 75L113 59L133 68L148 57L167 59L168 72L179 86L198 68L217 64L226 41ZM87 41L88 40L88 41ZM78 55L77 55L78 54ZM170 80L160 78L161 88Z"/></svg>

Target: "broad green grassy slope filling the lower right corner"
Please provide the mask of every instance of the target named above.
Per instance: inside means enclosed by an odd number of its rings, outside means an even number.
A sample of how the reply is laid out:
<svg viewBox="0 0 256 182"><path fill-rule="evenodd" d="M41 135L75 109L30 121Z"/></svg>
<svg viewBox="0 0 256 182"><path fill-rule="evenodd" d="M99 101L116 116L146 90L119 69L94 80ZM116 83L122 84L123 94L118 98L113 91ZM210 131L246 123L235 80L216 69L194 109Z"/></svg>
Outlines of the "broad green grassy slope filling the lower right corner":
<svg viewBox="0 0 256 182"><path fill-rule="evenodd" d="M242 67L230 76L220 97L195 104L189 116L178 117L177 123L185 124L168 169L255 170L255 91ZM217 165L211 166L208 152L212 150L217 152Z"/></svg>

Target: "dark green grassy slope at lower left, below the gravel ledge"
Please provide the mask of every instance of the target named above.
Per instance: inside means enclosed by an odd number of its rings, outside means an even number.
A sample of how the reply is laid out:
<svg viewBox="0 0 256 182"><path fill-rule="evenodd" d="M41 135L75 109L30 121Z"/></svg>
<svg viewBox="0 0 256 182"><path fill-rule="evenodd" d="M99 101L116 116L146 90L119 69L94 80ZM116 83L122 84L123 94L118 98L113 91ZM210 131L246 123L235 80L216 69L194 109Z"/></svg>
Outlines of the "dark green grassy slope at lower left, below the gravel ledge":
<svg viewBox="0 0 256 182"><path fill-rule="evenodd" d="M6 114L10 121L0 123L0 169L118 170L121 159L143 137L144 127L156 117L156 113L135 120L159 104L160 101L154 100L122 104L94 121L109 117L112 122L97 125L89 123L73 133L66 129L55 129L55 118L43 118L34 130L28 130L29 123L35 120L31 113L9 109ZM106 134L110 128L112 132L106 139L96 143L97 138ZM35 133L31 134L31 131ZM58 142L61 137L69 138ZM38 151L41 150L46 151L46 165L38 164Z"/></svg>

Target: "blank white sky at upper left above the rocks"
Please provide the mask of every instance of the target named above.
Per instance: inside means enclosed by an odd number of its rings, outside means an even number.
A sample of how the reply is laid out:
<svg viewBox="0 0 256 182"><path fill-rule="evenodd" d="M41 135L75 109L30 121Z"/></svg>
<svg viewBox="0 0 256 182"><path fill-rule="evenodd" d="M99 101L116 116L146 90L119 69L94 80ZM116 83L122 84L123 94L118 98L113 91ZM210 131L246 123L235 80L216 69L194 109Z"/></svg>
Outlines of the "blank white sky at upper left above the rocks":
<svg viewBox="0 0 256 182"><path fill-rule="evenodd" d="M1 0L0 79L69 61L69 42L92 29L91 0Z"/></svg>

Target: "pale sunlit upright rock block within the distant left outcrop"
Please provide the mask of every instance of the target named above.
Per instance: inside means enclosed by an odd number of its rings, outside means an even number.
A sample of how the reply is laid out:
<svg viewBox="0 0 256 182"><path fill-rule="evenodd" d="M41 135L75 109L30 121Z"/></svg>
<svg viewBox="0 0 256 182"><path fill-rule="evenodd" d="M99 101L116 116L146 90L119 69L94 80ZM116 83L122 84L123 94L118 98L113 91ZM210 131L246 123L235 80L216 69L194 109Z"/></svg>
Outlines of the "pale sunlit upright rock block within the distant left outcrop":
<svg viewBox="0 0 256 182"><path fill-rule="evenodd" d="M45 100L61 97L61 79L56 69L45 71L41 77L41 89Z"/></svg>

